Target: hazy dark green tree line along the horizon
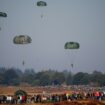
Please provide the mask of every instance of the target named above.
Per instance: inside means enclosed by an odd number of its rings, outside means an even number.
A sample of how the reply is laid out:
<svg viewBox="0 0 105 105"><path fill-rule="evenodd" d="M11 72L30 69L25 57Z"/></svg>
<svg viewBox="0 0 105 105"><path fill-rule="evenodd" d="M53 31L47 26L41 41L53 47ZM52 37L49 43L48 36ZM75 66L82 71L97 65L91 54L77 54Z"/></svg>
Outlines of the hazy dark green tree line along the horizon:
<svg viewBox="0 0 105 105"><path fill-rule="evenodd" d="M26 69L22 72L16 68L0 68L0 85L18 86L26 83L30 86L51 85L93 85L105 86L105 73L93 71L92 73L77 72L75 74L64 70L43 70L35 72Z"/></svg>

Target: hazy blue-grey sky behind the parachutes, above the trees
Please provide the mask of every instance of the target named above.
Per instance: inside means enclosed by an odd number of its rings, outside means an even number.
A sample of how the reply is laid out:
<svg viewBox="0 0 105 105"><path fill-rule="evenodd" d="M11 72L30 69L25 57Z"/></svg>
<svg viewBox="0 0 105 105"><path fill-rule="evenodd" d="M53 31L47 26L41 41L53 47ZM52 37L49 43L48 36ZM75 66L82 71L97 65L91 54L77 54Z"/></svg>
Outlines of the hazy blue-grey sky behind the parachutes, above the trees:
<svg viewBox="0 0 105 105"><path fill-rule="evenodd" d="M37 1L0 0L0 12L8 15L0 17L0 67L104 72L105 0L44 0L46 7ZM17 35L29 35L32 43L13 44ZM70 41L80 49L65 50Z"/></svg>

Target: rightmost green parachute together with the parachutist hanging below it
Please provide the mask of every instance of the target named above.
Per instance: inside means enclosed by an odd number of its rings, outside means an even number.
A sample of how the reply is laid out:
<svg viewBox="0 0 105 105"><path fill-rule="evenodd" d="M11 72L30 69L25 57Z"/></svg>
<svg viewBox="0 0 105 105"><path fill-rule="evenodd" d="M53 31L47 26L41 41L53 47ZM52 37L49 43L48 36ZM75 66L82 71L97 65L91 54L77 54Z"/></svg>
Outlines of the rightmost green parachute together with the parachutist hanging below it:
<svg viewBox="0 0 105 105"><path fill-rule="evenodd" d="M80 44L78 42L66 42L65 45L64 45L64 48L67 50L73 50L71 51L72 52L72 55L71 56L74 56L73 52L75 52L74 50L77 50L80 48ZM74 59L72 58L71 59L71 67L73 68L74 66Z"/></svg>

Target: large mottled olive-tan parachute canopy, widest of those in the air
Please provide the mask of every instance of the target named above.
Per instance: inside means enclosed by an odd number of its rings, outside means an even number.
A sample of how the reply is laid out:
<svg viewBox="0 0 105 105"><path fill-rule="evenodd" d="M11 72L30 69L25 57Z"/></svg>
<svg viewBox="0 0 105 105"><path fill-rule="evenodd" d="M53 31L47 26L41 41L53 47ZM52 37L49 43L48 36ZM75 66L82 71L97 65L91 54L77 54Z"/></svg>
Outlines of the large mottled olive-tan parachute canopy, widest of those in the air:
<svg viewBox="0 0 105 105"><path fill-rule="evenodd" d="M31 41L32 40L28 35L15 36L13 39L14 44L29 44Z"/></svg>

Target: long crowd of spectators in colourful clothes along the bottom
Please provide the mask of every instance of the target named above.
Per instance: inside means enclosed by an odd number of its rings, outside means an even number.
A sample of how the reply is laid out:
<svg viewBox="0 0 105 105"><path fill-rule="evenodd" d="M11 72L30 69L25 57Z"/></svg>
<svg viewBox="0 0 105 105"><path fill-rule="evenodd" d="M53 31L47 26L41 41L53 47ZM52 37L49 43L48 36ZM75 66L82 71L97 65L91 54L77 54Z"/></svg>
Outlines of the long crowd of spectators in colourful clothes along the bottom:
<svg viewBox="0 0 105 105"><path fill-rule="evenodd" d="M0 103L17 104L17 103L49 103L61 101L76 101L76 100L105 100L105 91L88 89L75 89L65 91L62 94L40 93L34 95L0 95Z"/></svg>

